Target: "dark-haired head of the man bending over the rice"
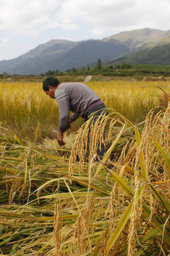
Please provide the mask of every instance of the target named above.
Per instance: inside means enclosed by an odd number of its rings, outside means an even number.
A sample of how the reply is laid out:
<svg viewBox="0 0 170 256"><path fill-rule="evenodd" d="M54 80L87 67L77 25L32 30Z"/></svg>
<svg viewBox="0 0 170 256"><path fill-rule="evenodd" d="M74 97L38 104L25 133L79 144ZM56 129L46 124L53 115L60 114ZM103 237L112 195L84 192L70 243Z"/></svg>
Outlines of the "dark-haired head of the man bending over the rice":
<svg viewBox="0 0 170 256"><path fill-rule="evenodd" d="M51 98L55 98L55 90L58 85L60 85L59 80L57 78L46 78L43 82L43 90L49 95Z"/></svg>

